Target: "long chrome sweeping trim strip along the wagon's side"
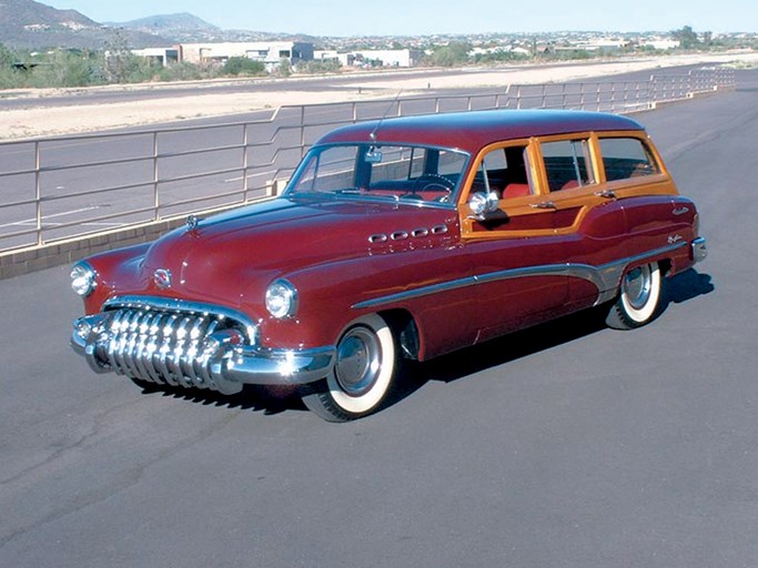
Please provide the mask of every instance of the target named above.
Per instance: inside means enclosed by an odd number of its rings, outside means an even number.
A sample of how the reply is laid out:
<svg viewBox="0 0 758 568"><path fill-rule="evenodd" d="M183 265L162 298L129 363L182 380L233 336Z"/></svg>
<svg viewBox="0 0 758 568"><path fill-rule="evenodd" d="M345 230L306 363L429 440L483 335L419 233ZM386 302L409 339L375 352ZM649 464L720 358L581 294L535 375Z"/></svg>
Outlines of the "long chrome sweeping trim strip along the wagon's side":
<svg viewBox="0 0 758 568"><path fill-rule="evenodd" d="M439 294L442 292L449 292L453 290L476 286L478 284L487 284L492 282L499 282L514 278L527 278L535 276L566 276L590 282L595 285L595 287L597 287L598 291L598 297L595 302L595 304L597 305L608 300L613 300L613 297L615 297L616 292L618 290L618 285L621 282L624 271L629 264L634 264L653 256L658 256L660 254L674 252L686 245L687 243L677 243L671 246L665 246L663 248L656 248L655 251L648 251L643 254L614 261L602 266L593 266L590 264L567 263L525 266L522 268L509 268L505 271L489 272L486 274L467 276L465 278L441 282L438 284L432 284L429 286L422 286L405 292L397 292L395 294L387 294L386 296L381 296L377 298L365 300L363 302L354 304L352 307L353 310L378 307L386 304L406 302L408 300L415 300L432 294Z"/></svg>

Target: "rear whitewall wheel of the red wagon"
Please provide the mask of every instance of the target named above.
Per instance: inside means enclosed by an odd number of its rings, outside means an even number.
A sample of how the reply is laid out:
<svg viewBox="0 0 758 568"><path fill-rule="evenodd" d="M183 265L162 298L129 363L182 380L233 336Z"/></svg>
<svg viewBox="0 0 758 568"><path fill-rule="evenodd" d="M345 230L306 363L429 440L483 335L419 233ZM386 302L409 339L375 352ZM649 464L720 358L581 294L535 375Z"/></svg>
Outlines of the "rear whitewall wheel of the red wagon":
<svg viewBox="0 0 758 568"><path fill-rule="evenodd" d="M621 280L620 293L610 307L606 323L615 329L633 329L647 324L658 315L660 291L658 263L630 270Z"/></svg>

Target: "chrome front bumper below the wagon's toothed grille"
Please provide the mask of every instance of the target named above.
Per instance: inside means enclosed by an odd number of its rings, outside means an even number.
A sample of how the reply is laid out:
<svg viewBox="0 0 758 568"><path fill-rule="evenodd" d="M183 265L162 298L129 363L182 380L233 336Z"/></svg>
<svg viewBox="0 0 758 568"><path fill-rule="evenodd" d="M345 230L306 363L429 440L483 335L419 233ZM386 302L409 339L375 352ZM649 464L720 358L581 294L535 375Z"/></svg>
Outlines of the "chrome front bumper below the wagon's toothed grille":
<svg viewBox="0 0 758 568"><path fill-rule="evenodd" d="M243 344L234 329L201 342L155 339L114 333L103 314L73 324L71 346L97 373L114 372L156 384L199 387L234 394L244 384L302 385L325 377L334 366L334 347L265 349Z"/></svg>

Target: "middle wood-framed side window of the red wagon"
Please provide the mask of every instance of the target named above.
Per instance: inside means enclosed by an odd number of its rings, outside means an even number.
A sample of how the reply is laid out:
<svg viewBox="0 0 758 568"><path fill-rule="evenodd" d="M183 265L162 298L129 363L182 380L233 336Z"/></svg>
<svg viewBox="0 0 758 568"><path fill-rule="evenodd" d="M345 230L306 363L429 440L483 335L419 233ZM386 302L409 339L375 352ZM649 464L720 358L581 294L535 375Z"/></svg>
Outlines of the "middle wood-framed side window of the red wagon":
<svg viewBox="0 0 758 568"><path fill-rule="evenodd" d="M552 192L582 187L596 182L590 168L587 140L558 140L540 144L547 184Z"/></svg>

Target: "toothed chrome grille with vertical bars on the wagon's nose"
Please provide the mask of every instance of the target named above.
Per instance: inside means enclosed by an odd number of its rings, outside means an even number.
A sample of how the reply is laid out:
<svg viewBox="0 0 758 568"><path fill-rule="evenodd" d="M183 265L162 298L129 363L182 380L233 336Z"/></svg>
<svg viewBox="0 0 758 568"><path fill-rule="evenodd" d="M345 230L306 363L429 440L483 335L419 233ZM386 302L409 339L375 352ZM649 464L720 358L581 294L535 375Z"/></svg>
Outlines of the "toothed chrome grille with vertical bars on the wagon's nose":
<svg viewBox="0 0 758 568"><path fill-rule="evenodd" d="M220 337L246 342L245 326L208 312L125 306L107 312L94 357L119 374L158 384L220 389L212 365Z"/></svg>

